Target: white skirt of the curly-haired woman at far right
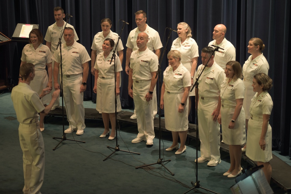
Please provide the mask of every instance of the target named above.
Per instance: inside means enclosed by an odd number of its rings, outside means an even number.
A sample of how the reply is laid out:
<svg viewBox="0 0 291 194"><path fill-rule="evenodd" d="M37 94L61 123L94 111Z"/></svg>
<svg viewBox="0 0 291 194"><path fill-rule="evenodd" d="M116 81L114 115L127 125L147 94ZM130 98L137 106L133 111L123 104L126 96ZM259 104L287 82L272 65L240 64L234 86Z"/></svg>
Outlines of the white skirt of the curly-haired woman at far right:
<svg viewBox="0 0 291 194"><path fill-rule="evenodd" d="M272 127L268 123L268 129L265 136L266 148L263 151L259 144L262 125L263 121L249 120L248 139L246 140L246 156L253 161L268 162L272 159Z"/></svg>

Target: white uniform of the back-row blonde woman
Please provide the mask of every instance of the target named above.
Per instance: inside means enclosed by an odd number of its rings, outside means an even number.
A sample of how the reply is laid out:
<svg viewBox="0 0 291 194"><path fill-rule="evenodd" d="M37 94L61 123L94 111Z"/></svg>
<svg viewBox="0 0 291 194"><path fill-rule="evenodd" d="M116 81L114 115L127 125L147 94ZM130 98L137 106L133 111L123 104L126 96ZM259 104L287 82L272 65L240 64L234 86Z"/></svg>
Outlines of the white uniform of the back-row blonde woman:
<svg viewBox="0 0 291 194"><path fill-rule="evenodd" d="M192 58L199 57L198 45L193 38L187 37L181 44L181 38L178 37L173 41L171 51L178 50L181 53L181 63L191 73ZM189 92L189 96L195 96L195 90Z"/></svg>

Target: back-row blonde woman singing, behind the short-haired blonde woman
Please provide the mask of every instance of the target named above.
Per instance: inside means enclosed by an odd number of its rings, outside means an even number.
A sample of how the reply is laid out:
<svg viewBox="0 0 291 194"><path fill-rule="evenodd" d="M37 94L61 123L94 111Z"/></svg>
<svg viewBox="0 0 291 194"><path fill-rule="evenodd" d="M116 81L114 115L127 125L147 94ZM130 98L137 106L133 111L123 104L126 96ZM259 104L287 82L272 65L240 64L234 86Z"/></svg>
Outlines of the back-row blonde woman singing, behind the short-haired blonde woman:
<svg viewBox="0 0 291 194"><path fill-rule="evenodd" d="M191 85L193 85L194 74L199 57L198 45L196 41L193 38L191 38L192 37L191 28L187 23L180 22L177 26L177 33L179 37L173 41L171 50L180 51L182 57L181 63L190 72ZM187 113L188 115L190 114L191 109L190 96L195 96L194 90L189 93L189 110Z"/></svg>

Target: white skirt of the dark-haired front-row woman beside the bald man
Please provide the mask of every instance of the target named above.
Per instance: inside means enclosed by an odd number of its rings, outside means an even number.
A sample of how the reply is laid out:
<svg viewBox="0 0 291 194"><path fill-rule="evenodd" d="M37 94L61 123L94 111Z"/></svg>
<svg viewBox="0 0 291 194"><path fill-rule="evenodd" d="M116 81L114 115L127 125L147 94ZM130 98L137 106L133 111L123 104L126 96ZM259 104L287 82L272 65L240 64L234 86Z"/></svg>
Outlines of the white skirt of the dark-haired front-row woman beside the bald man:
<svg viewBox="0 0 291 194"><path fill-rule="evenodd" d="M104 113L115 112L115 94L114 94L114 78L111 79L97 79L97 98L96 110ZM117 112L121 111L120 96L116 96Z"/></svg>

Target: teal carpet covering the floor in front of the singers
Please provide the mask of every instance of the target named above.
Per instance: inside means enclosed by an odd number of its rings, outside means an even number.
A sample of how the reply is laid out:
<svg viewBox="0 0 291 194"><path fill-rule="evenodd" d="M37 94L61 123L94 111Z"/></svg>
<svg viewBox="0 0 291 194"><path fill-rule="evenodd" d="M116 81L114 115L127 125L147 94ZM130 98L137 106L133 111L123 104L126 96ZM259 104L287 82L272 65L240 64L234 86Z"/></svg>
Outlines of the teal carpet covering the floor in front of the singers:
<svg viewBox="0 0 291 194"><path fill-rule="evenodd" d="M0 193L22 193L24 184L22 169L22 151L19 145L18 121L9 121L6 117L15 117L10 93L0 95ZM84 102L87 108L95 108L95 104ZM42 136L45 142L45 177L41 193L184 193L192 188L191 181L196 182L195 141L190 141L187 150L182 155L175 155L175 151L163 151L171 146L171 134L162 133L161 157L171 159L164 165L175 175L172 176L161 165L135 169L136 166L151 164L159 159L158 132L154 145L147 147L145 142L131 143L136 137L137 128L133 125L121 126L118 133L118 145L121 150L139 152L141 155L116 152L109 159L103 159L113 150L107 146L115 147L116 140L99 138L103 132L103 122L86 120L84 134L76 136L75 132L67 134L68 139L86 141L63 141L55 151L52 149L61 137L62 118L46 117L45 131ZM65 121L65 129L68 122ZM107 136L108 137L108 136ZM200 152L198 153L198 156ZM234 179L222 176L229 167L228 153L221 152L222 162L216 167L208 167L205 163L198 164L198 180L200 186L218 193L231 193L230 187L235 184ZM243 163L243 167L246 164ZM276 185L272 186L276 193L285 193ZM196 189L189 193L208 193Z"/></svg>

